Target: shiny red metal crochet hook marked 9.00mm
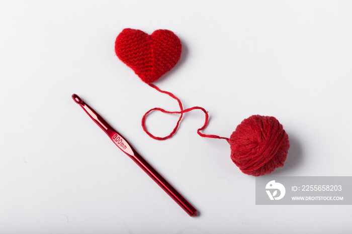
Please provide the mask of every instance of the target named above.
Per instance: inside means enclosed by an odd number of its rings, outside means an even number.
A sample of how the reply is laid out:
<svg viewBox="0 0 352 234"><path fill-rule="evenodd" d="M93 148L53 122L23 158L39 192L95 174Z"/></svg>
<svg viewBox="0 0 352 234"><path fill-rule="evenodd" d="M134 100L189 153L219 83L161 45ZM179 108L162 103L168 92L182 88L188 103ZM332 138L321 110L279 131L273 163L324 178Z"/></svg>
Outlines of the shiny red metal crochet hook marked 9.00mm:
<svg viewBox="0 0 352 234"><path fill-rule="evenodd" d="M140 166L175 202L177 202L190 216L197 216L197 210L176 189L174 189L145 159L140 156L130 143L113 129L92 107L87 105L77 94L72 95L92 120L109 136L109 138Z"/></svg>

